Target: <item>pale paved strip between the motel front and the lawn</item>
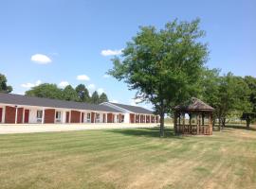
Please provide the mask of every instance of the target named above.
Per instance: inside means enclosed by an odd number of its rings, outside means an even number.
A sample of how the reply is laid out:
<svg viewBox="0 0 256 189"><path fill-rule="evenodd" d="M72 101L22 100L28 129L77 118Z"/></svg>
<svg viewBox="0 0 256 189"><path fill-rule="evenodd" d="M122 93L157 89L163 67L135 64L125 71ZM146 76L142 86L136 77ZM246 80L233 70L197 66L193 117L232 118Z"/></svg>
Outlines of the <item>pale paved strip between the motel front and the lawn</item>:
<svg viewBox="0 0 256 189"><path fill-rule="evenodd" d="M86 129L154 128L157 124L0 124L0 134L54 132Z"/></svg>

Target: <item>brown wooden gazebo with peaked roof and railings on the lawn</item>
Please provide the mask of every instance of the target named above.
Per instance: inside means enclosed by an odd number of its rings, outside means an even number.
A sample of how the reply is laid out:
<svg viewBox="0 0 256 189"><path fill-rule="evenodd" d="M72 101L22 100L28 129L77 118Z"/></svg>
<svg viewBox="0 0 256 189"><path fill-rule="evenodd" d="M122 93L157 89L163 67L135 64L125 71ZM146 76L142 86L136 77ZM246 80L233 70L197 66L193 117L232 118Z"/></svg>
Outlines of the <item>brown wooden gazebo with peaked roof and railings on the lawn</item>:
<svg viewBox="0 0 256 189"><path fill-rule="evenodd" d="M191 100L174 108L175 134L212 134L212 112L214 109L202 100Z"/></svg>

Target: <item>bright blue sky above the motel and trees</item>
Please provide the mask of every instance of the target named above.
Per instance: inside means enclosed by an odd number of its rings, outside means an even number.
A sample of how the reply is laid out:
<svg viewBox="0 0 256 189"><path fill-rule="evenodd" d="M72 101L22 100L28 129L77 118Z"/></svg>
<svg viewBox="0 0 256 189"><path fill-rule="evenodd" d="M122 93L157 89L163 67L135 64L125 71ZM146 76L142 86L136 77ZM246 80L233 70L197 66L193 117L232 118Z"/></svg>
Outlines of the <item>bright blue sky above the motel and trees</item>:
<svg viewBox="0 0 256 189"><path fill-rule="evenodd" d="M118 52L138 26L160 28L175 18L199 17L210 48L207 65L223 74L256 77L255 10L255 0L1 0L0 73L16 94L40 81L84 83L91 91L103 90L110 100L131 104L135 92L103 77L112 56L102 51ZM37 54L46 57L31 60Z"/></svg>

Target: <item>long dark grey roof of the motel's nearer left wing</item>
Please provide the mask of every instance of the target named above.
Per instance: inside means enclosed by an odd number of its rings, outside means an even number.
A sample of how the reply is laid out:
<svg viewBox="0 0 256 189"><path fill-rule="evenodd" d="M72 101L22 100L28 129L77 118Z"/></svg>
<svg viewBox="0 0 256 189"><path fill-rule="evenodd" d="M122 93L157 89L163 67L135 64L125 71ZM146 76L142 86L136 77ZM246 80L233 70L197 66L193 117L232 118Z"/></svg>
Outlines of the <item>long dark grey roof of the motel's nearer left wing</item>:
<svg viewBox="0 0 256 189"><path fill-rule="evenodd" d="M89 104L84 102L73 102L58 99L49 99L41 97L30 97L21 94L2 94L0 93L0 103L24 105L24 106L39 106L49 108L61 108L72 110L88 110L88 111L100 111L100 112L120 112L111 107L101 106L98 104Z"/></svg>

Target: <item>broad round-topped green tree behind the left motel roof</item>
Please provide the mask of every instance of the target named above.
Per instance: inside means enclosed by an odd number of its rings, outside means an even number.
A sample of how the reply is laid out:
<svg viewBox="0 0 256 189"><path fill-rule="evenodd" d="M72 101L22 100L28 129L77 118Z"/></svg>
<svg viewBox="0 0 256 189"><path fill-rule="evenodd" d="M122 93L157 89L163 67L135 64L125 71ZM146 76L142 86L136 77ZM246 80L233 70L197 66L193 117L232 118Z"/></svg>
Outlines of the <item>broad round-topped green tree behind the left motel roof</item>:
<svg viewBox="0 0 256 189"><path fill-rule="evenodd" d="M56 84L44 83L28 90L28 96L46 97L53 99L62 99L62 90Z"/></svg>

